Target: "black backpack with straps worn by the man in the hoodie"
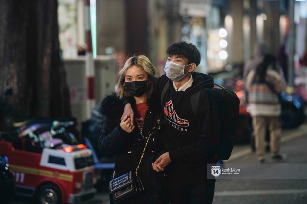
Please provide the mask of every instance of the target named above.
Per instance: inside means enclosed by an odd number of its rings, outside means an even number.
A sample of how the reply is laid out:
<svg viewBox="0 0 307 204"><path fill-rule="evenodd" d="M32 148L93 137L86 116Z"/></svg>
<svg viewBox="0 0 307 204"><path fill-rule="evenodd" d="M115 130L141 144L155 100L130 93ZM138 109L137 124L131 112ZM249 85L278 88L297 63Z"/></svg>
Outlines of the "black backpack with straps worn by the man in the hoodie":
<svg viewBox="0 0 307 204"><path fill-rule="evenodd" d="M235 130L239 115L239 98L231 90L228 90L220 85L214 83L214 85L220 88L212 88L214 97L218 104L219 116L221 120L220 130L220 143L217 149L217 155L219 160L228 160L235 141ZM165 104L166 94L169 87L167 82L161 93L162 107ZM193 114L197 118L199 107L199 96L202 90L197 91L191 95L191 104Z"/></svg>

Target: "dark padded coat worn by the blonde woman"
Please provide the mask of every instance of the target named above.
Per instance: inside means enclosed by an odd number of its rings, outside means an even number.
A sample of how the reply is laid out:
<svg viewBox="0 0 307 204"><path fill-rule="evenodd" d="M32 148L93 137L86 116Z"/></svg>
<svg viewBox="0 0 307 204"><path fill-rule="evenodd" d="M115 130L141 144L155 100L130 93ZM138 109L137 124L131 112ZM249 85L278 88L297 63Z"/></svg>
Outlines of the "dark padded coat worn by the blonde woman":
<svg viewBox="0 0 307 204"><path fill-rule="evenodd" d="M102 100L100 109L103 115L103 122L98 148L103 156L111 157L115 154L117 155L115 160L115 178L129 171L135 171L148 138L147 132L152 127L157 126L157 121L161 114L161 102L150 99L148 101L149 110L146 112L143 125L144 137L140 134L137 125L132 133L127 133L120 127L120 118L123 113L122 103L122 100L113 93ZM160 133L151 135L138 170L138 175L144 185L145 192L131 197L123 203L164 203L164 174L163 172L157 173L153 171L151 164L163 153L159 135ZM113 203L111 195L110 201Z"/></svg>

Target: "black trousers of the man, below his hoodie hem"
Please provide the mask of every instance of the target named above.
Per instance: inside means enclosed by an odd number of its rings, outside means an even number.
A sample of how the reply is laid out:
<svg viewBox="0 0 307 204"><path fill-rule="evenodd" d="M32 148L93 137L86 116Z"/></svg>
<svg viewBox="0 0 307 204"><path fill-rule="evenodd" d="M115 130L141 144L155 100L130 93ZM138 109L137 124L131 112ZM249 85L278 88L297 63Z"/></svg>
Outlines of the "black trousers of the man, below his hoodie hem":
<svg viewBox="0 0 307 204"><path fill-rule="evenodd" d="M203 174L175 171L167 175L166 188L171 204L212 204L215 180Z"/></svg>

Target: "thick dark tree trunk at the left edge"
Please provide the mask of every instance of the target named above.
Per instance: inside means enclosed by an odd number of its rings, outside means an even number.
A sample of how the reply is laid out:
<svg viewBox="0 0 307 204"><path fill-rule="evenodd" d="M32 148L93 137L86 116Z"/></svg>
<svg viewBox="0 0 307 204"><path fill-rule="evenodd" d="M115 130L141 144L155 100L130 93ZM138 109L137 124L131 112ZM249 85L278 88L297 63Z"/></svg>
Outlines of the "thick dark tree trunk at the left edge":
<svg viewBox="0 0 307 204"><path fill-rule="evenodd" d="M35 116L71 116L57 7L57 0L0 0L0 114L8 126ZM8 86L13 94L4 97Z"/></svg>

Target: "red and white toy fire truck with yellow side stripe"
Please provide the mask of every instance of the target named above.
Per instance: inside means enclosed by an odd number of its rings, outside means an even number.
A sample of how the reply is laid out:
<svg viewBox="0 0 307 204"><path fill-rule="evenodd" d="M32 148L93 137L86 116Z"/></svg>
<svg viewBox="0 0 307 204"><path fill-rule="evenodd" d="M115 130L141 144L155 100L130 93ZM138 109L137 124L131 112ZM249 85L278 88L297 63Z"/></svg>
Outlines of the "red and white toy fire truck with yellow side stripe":
<svg viewBox="0 0 307 204"><path fill-rule="evenodd" d="M29 139L5 141L0 138L0 154L5 154L9 160L16 195L32 197L38 204L78 203L95 196L90 149L82 144L54 145L49 141L53 148L33 151L33 147L27 150Z"/></svg>

